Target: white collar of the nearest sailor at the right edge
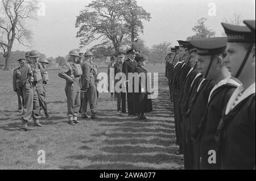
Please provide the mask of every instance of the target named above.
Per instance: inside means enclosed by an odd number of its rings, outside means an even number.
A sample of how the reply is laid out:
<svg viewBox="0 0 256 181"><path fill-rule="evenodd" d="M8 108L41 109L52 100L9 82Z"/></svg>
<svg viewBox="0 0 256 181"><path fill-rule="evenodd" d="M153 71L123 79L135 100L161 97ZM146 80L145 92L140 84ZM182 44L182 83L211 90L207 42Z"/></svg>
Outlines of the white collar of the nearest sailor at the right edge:
<svg viewBox="0 0 256 181"><path fill-rule="evenodd" d="M243 88L243 85L240 85L233 92L226 106L225 115L227 115L231 110L233 110L233 108L236 107L238 103L242 102L242 100L246 99L251 94L255 94L255 82L251 86L249 86L245 91L243 90L245 90ZM241 94L241 96L238 96L242 91L243 93Z"/></svg>

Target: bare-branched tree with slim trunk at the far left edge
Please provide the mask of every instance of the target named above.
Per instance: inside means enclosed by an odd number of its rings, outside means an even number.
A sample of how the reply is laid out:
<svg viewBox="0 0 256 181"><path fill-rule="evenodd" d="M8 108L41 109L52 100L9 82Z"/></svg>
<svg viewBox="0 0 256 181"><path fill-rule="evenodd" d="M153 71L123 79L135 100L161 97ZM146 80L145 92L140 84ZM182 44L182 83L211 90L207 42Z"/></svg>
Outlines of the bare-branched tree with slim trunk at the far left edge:
<svg viewBox="0 0 256 181"><path fill-rule="evenodd" d="M38 9L34 0L1 0L0 2L0 47L5 57L5 70L9 70L11 49L14 41L25 45L31 39L31 31L24 26L24 20L35 18Z"/></svg>

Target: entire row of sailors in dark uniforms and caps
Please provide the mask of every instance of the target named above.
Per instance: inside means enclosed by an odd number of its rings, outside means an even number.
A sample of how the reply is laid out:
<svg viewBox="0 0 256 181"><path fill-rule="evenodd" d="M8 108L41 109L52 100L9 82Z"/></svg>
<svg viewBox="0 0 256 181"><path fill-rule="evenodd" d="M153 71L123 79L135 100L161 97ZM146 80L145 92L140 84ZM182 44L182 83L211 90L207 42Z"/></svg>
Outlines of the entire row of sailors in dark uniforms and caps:
<svg viewBox="0 0 256 181"><path fill-rule="evenodd" d="M185 169L255 169L255 20L181 41L166 57Z"/></svg>

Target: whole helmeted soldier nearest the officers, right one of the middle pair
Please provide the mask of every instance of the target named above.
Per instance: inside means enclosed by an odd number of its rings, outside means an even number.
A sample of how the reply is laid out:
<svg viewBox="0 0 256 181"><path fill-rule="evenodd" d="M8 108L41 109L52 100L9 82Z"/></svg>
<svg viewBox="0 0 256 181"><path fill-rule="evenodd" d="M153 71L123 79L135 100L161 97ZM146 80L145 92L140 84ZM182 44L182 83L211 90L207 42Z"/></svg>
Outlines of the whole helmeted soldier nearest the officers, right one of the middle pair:
<svg viewBox="0 0 256 181"><path fill-rule="evenodd" d="M91 119L99 119L97 113L97 91L95 86L95 75L98 74L96 66L92 62L93 53L86 51L84 53L84 62L82 62L82 90L84 91L84 100L82 100L82 118L86 119L87 103L90 105Z"/></svg>

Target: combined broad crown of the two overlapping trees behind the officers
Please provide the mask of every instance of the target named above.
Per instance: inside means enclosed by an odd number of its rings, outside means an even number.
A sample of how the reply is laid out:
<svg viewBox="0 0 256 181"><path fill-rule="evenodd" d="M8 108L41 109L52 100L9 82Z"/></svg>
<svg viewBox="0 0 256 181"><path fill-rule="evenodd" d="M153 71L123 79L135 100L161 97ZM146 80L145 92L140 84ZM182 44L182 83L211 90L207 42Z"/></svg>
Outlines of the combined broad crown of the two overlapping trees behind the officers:
<svg viewBox="0 0 256 181"><path fill-rule="evenodd" d="M95 0L77 16L76 37L80 38L81 47L101 40L98 45L112 43L118 52L121 47L131 45L139 32L143 32L142 20L150 18L135 0Z"/></svg>

